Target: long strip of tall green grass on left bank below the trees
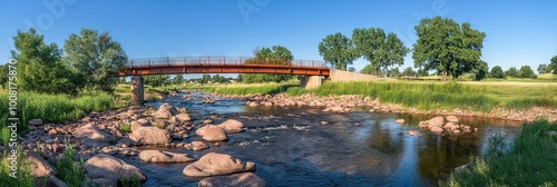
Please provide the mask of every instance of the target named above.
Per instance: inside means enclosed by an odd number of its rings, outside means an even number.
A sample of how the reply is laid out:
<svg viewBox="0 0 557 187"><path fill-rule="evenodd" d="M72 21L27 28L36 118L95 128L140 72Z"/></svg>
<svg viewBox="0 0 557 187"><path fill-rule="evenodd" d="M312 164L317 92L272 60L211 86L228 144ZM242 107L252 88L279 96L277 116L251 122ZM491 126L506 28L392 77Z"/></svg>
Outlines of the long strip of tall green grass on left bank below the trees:
<svg viewBox="0 0 557 187"><path fill-rule="evenodd" d="M66 95L46 95L33 92L18 94L17 117L18 132L26 132L27 121L30 119L42 119L46 122L63 122L66 120L79 119L84 112L104 111L114 108L114 96L94 91L79 97ZM0 139L7 141L4 129L8 126L9 95L0 92ZM4 144L6 145L6 144Z"/></svg>

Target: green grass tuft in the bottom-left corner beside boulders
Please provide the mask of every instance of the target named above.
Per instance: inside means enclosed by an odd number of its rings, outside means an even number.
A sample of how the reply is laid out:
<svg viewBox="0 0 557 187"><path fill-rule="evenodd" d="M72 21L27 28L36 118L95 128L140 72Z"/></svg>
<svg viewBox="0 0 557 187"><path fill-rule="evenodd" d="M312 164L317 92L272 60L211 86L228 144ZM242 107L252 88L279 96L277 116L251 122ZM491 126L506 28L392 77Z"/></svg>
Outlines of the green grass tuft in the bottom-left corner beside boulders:
<svg viewBox="0 0 557 187"><path fill-rule="evenodd" d="M2 152L2 160L0 163L0 186L21 186L21 187L32 187L35 186L33 177L31 176L31 167L29 163L27 163L27 157L22 154L22 149L17 148L17 178L12 178L9 176L11 173L10 161L8 158L11 156L8 151Z"/></svg>

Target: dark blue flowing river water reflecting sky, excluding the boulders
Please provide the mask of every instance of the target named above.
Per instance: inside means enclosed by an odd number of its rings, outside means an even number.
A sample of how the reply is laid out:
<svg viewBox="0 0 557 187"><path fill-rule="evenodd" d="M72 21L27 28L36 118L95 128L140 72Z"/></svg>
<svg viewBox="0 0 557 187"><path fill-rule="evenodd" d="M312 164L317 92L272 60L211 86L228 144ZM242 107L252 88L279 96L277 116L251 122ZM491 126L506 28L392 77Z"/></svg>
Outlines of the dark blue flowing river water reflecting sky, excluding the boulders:
<svg viewBox="0 0 557 187"><path fill-rule="evenodd" d="M449 138L419 129L418 122L433 116L370 114L367 109L349 114L322 112L317 108L278 108L244 106L236 99L199 104L203 92L180 94L158 102L185 107L198 124L213 117L244 122L246 130L229 134L229 140L209 149L138 147L186 152L199 158L207 152L224 152L256 164L255 174L267 186L437 186L471 156L480 156L490 136L501 132L510 140L518 132L517 122L460 118L459 124L479 128L473 137ZM394 120L403 118L407 125ZM321 121L329 125L321 125ZM356 125L358 124L358 125ZM515 126L509 126L515 125ZM422 136L409 136L418 130ZM194 132L184 141L199 140ZM185 177L186 164L146 164L137 157L120 157L148 177L144 186L197 186L201 178Z"/></svg>

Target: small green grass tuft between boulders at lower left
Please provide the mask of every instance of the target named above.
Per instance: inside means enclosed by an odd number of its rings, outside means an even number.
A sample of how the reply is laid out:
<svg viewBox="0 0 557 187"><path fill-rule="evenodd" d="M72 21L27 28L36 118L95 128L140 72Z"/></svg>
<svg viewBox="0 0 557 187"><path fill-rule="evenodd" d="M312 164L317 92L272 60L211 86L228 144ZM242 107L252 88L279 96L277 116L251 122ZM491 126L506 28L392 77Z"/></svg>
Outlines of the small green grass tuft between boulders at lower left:
<svg viewBox="0 0 557 187"><path fill-rule="evenodd" d="M81 160L76 160L74 155L76 149L70 144L66 144L60 159L56 161L57 177L65 181L69 187L85 186L85 170Z"/></svg>

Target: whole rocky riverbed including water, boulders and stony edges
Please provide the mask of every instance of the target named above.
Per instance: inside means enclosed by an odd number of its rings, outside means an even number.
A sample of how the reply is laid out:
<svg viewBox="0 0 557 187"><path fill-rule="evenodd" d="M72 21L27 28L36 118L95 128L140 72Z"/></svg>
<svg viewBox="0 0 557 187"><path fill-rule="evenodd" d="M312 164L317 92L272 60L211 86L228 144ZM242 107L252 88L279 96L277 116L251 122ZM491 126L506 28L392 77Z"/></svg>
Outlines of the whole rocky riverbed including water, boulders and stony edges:
<svg viewBox="0 0 557 187"><path fill-rule="evenodd" d="M511 121L400 114L405 109L356 96L183 91L150 105L63 125L29 121L21 142L41 166L33 175L63 186L51 166L71 145L88 184L100 186L130 176L145 186L429 186L478 156L485 137L517 130L486 125Z"/></svg>

